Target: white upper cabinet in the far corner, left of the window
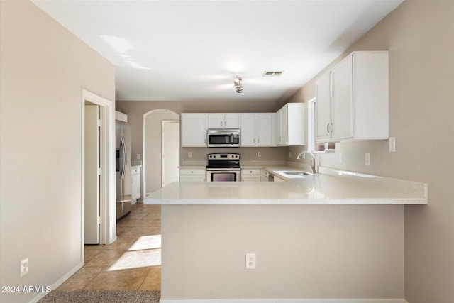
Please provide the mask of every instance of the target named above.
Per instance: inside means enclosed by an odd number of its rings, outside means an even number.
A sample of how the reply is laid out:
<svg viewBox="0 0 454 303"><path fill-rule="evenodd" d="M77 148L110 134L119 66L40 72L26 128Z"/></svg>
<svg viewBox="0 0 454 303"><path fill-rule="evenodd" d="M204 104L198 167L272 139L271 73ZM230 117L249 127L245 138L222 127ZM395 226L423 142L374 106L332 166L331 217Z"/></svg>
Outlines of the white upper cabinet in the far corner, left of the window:
<svg viewBox="0 0 454 303"><path fill-rule="evenodd" d="M276 113L276 145L305 145L304 103L287 103Z"/></svg>

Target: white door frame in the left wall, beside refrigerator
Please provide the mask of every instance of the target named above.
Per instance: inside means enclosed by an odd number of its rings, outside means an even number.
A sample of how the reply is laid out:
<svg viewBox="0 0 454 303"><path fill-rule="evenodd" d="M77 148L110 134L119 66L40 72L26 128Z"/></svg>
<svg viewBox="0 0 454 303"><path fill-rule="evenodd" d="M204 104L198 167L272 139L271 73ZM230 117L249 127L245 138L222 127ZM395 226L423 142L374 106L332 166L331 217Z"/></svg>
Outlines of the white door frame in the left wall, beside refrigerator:
<svg viewBox="0 0 454 303"><path fill-rule="evenodd" d="M92 92L82 89L82 262L84 262L84 164L85 164L85 102L89 101L92 104L99 105L101 117L101 131L100 131L100 165L101 165L101 182L100 182L100 205L99 216L101 217L101 226L99 232L99 243L110 244L116 241L116 205L115 205L115 111L114 102L103 97L100 97Z"/></svg>

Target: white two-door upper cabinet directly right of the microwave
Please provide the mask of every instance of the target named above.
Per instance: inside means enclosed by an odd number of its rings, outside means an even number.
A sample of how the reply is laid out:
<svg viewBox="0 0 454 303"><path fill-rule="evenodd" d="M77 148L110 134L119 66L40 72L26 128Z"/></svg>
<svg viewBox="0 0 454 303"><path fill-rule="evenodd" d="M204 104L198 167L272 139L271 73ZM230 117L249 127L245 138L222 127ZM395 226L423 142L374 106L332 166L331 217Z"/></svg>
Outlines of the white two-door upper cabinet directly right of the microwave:
<svg viewBox="0 0 454 303"><path fill-rule="evenodd" d="M240 114L241 146L272 146L272 114Z"/></svg>

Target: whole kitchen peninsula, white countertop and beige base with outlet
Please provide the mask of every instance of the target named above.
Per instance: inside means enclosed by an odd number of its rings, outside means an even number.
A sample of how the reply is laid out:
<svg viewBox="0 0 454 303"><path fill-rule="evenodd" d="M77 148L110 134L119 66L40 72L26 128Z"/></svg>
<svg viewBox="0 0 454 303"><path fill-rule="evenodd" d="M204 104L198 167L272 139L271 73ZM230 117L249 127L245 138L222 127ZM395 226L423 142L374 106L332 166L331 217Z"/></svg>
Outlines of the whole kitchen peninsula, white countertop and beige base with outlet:
<svg viewBox="0 0 454 303"><path fill-rule="evenodd" d="M404 302L404 204L427 204L427 185L319 172L148 195L162 205L161 302Z"/></svg>

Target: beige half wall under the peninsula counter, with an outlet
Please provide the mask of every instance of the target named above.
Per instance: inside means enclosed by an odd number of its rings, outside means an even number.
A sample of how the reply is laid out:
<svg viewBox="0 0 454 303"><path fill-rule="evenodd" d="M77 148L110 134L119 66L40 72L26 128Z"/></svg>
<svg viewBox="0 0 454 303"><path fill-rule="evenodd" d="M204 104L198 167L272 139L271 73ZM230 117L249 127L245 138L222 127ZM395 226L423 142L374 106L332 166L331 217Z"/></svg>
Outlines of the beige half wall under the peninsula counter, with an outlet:
<svg viewBox="0 0 454 303"><path fill-rule="evenodd" d="M163 300L404 297L402 205L163 205L162 251Z"/></svg>

